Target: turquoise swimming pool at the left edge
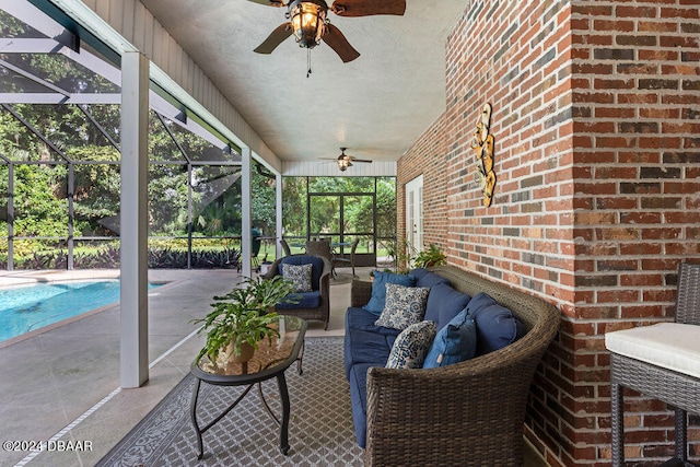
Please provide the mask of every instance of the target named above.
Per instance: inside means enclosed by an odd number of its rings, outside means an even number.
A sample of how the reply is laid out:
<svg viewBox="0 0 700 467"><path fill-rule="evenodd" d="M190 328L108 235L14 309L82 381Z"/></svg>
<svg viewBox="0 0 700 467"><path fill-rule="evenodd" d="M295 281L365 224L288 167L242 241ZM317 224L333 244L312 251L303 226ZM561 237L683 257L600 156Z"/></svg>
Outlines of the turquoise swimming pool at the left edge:
<svg viewBox="0 0 700 467"><path fill-rule="evenodd" d="M118 301L116 279L0 289L0 342Z"/></svg>

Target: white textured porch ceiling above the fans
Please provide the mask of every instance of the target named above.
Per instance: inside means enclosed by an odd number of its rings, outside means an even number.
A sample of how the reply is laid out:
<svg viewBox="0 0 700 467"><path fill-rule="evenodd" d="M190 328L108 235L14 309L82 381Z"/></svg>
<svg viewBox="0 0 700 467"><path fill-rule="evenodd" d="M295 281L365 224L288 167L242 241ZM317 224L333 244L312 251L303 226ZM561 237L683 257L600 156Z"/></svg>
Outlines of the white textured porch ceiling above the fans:
<svg viewBox="0 0 700 467"><path fill-rule="evenodd" d="M380 0L377 0L380 1ZM396 161L445 108L445 39L466 0L407 0L404 16L328 17L361 54L293 37L255 54L287 8L248 0L141 0L262 138L287 161ZM329 3L330 5L330 3Z"/></svg>

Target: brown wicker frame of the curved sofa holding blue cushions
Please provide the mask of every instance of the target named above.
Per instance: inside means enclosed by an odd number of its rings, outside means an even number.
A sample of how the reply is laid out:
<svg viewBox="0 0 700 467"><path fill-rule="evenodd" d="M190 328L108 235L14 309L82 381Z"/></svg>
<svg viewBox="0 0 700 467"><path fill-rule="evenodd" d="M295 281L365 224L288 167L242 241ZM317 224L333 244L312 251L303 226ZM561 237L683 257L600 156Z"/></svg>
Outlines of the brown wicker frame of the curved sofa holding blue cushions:
<svg viewBox="0 0 700 467"><path fill-rule="evenodd" d="M501 350L438 369L369 367L365 465L522 465L529 386L559 329L559 311L455 267L431 271L462 293L491 295L520 318L525 335ZM365 305L371 292L371 282L353 281L348 313ZM349 345L346 338L346 352Z"/></svg>

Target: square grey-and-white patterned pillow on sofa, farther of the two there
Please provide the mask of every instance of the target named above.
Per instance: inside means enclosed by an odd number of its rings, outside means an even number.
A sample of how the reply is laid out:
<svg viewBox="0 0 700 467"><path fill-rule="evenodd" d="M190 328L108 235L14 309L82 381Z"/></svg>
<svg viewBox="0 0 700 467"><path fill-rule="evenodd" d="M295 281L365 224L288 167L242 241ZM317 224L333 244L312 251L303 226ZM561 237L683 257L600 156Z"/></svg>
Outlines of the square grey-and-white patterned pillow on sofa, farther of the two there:
<svg viewBox="0 0 700 467"><path fill-rule="evenodd" d="M425 303L430 289L427 287L404 287L386 284L386 303L376 326L404 330L415 323L423 320Z"/></svg>

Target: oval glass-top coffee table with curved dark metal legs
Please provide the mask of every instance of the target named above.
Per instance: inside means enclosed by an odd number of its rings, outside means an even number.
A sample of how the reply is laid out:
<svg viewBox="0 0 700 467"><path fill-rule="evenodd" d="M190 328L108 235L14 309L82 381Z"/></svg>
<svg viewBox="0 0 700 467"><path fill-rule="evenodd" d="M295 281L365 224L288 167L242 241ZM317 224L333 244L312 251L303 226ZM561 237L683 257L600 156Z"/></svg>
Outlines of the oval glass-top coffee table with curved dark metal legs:
<svg viewBox="0 0 700 467"><path fill-rule="evenodd" d="M287 390L287 380L284 372L294 361L299 360L299 373L301 369L301 353L304 347L304 332L306 332L306 322L294 316L280 316L278 322L280 337L272 339L270 345L267 339L258 342L258 349L255 351L253 359L246 363L231 363L228 361L217 360L211 362L207 355L198 361L192 362L189 371L196 377L195 388L192 392L192 400L190 405L190 416L195 431L197 432L197 458L201 459L205 455L201 435L212 428L219 420L226 416L241 400L257 385L260 400L272 420L280 427L280 451L283 455L289 452L288 429L289 429L289 393ZM277 378L277 385L280 392L280 400L282 402L282 419L278 419L268 406L260 383ZM201 383L208 383L217 386L248 386L236 400L226 407L221 415L214 418L203 428L197 422L197 401L199 398L199 387Z"/></svg>

